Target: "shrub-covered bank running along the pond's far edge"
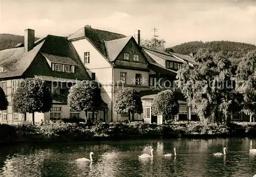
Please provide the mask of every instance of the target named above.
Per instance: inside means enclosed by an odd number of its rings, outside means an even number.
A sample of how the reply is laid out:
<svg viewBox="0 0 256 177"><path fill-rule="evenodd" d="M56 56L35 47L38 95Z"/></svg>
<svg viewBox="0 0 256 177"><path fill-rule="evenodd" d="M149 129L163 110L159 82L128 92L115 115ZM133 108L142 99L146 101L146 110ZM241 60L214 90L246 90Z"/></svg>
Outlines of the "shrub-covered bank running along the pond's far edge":
<svg viewBox="0 0 256 177"><path fill-rule="evenodd" d="M208 137L256 137L256 123L48 123L44 125L0 124L0 142L44 142L118 140L129 138L208 138Z"/></svg>

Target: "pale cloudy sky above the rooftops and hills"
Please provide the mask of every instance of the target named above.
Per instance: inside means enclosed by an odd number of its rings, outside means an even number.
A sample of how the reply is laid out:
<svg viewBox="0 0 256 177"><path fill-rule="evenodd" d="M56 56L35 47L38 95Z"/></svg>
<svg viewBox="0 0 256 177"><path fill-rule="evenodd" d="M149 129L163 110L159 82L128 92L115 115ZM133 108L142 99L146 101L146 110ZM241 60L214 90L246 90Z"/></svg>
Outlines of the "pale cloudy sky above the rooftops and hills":
<svg viewBox="0 0 256 177"><path fill-rule="evenodd" d="M151 39L172 47L188 41L229 40L256 45L256 0L23 1L0 0L0 33L68 36L92 28Z"/></svg>

